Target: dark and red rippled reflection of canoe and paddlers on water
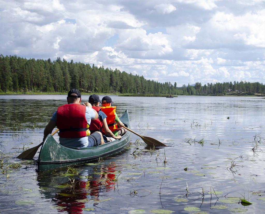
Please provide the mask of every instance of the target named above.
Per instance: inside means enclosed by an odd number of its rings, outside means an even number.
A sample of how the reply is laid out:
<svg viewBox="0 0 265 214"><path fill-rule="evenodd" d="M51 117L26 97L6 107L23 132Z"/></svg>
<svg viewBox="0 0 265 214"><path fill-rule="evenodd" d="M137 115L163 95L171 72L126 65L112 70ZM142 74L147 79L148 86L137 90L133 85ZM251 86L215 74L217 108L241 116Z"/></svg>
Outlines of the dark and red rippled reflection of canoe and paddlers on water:
<svg viewBox="0 0 265 214"><path fill-rule="evenodd" d="M38 172L41 193L55 202L58 211L81 214L84 210L94 210L93 206L100 201L100 193L115 188L116 169L114 163L89 165L84 171L68 167L67 171Z"/></svg>

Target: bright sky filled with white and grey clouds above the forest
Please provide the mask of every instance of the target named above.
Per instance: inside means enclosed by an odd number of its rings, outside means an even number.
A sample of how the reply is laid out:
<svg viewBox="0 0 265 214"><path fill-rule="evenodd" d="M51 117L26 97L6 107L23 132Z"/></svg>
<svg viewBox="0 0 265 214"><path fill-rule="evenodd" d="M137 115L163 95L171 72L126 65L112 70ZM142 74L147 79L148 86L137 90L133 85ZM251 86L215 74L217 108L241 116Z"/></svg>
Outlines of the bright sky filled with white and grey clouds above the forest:
<svg viewBox="0 0 265 214"><path fill-rule="evenodd" d="M265 1L0 0L0 54L158 82L265 83Z"/></svg>

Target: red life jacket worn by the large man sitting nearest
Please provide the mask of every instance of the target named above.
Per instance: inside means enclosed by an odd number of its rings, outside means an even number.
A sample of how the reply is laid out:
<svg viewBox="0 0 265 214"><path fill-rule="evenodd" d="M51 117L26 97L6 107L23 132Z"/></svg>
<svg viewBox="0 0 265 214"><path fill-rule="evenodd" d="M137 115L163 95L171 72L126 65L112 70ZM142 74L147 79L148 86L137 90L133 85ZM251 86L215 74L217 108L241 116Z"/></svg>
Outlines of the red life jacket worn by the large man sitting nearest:
<svg viewBox="0 0 265 214"><path fill-rule="evenodd" d="M57 109L56 125L60 137L74 138L87 136L86 106L66 104Z"/></svg>

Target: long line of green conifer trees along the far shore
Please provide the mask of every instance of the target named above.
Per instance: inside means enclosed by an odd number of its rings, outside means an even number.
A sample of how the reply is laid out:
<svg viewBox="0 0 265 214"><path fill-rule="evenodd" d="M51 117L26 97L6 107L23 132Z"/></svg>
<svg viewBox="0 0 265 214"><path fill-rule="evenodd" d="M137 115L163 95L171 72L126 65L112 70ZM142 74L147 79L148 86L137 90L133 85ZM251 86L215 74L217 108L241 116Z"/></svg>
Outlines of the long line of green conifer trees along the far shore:
<svg viewBox="0 0 265 214"><path fill-rule="evenodd" d="M172 95L213 95L233 91L264 94L262 83L227 82L208 83L202 86L177 87L177 83L159 83L143 76L128 74L118 69L92 67L80 62L67 62L58 57L51 59L26 59L0 55L0 92L68 92L78 88L86 93L141 93Z"/></svg>

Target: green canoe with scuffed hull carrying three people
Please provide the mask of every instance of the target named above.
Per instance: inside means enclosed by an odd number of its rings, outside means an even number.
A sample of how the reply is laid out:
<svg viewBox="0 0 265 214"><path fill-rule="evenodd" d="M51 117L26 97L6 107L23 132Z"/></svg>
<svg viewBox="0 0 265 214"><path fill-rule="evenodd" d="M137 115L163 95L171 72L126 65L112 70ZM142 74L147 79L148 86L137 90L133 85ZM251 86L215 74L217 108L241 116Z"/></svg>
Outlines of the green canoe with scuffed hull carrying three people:
<svg viewBox="0 0 265 214"><path fill-rule="evenodd" d="M120 120L125 126L131 128L127 110L123 113ZM99 146L78 149L60 145L49 134L39 152L37 171L50 170L72 164L82 164L98 160L100 157L103 158L115 154L129 144L131 135L131 132L127 131L120 140L114 140Z"/></svg>

